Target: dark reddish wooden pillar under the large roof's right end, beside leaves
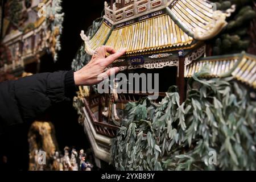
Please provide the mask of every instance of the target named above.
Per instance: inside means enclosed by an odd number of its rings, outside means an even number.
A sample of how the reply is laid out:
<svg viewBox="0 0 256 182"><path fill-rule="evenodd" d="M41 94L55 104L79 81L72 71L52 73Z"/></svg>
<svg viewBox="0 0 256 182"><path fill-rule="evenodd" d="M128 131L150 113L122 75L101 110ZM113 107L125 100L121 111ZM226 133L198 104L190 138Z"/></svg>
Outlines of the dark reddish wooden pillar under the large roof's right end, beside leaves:
<svg viewBox="0 0 256 182"><path fill-rule="evenodd" d="M177 78L177 87L179 89L180 104L182 104L185 101L184 69L185 69L184 51L179 51L179 73L178 73L178 78Z"/></svg>

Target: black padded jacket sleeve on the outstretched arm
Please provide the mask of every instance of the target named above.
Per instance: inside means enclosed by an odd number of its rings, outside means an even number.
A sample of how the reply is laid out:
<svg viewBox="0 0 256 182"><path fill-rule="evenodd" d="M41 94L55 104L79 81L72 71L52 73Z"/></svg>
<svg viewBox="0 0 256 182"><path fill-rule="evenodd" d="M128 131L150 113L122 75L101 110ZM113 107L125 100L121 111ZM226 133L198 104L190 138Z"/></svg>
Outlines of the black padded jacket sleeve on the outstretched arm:
<svg viewBox="0 0 256 182"><path fill-rule="evenodd" d="M71 100L76 86L73 71L40 73L0 84L0 134L7 127L32 121L50 106Z"/></svg>

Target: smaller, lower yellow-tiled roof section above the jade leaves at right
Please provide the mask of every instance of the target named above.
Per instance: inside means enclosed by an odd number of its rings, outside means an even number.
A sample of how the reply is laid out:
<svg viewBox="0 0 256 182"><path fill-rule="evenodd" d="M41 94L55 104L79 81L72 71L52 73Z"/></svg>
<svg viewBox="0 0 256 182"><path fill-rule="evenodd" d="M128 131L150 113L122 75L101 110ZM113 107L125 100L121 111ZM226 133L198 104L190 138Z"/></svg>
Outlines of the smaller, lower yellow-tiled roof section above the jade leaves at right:
<svg viewBox="0 0 256 182"><path fill-rule="evenodd" d="M209 73L203 77L233 76L236 80L256 89L256 56L247 53L204 57L193 61L185 71L185 77L192 77L208 65Z"/></svg>

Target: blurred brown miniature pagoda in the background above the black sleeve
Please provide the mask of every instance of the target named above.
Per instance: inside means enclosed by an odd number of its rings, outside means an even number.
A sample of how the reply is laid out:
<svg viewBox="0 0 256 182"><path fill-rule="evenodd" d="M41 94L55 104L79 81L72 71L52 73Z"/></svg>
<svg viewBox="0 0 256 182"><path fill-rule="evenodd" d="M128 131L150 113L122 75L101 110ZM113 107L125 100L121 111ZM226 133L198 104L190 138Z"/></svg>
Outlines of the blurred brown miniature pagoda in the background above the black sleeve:
<svg viewBox="0 0 256 182"><path fill-rule="evenodd" d="M57 59L63 13L60 0L7 1L2 9L0 72L16 72L46 52Z"/></svg>

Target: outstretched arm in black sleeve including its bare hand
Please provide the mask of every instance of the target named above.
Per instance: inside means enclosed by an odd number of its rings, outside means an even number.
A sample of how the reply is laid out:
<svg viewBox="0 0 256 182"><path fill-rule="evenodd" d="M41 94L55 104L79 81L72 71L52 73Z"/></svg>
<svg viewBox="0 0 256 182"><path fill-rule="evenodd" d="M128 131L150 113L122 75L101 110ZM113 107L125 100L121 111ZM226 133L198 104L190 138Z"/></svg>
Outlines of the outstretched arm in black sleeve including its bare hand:
<svg viewBox="0 0 256 182"><path fill-rule="evenodd" d="M49 107L75 96L76 86L95 85L102 78L119 71L108 65L124 55L125 49L116 52L112 47L102 46L92 60L77 72L41 73L0 84L0 133L4 127L32 121ZM106 53L110 55L106 57Z"/></svg>

